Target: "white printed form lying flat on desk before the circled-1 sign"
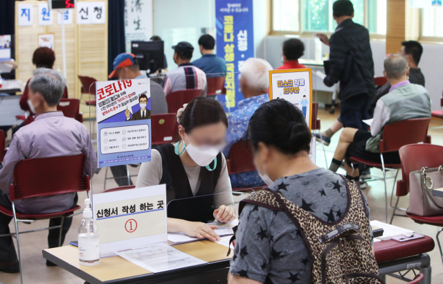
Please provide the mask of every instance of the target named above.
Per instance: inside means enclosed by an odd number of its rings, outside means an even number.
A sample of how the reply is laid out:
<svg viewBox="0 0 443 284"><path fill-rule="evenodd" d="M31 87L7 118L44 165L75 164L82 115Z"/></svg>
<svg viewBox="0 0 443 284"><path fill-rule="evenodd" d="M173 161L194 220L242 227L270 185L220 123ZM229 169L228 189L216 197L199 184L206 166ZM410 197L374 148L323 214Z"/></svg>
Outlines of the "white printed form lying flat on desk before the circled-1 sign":
<svg viewBox="0 0 443 284"><path fill-rule="evenodd" d="M204 260L185 254L163 242L116 251L115 254L153 273L206 263Z"/></svg>

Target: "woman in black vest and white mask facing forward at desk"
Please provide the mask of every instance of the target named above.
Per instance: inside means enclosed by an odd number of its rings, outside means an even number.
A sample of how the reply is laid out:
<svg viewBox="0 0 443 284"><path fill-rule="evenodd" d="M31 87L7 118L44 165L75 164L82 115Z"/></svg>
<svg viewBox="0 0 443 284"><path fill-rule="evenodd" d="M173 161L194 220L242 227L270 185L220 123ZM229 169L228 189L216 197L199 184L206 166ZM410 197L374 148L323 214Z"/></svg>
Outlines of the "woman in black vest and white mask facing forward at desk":
<svg viewBox="0 0 443 284"><path fill-rule="evenodd" d="M217 100L198 97L179 109L177 121L181 140L152 150L136 187L166 184L168 232L219 240L213 231L217 227L205 223L235 219L226 159L220 152L228 129L226 114Z"/></svg>

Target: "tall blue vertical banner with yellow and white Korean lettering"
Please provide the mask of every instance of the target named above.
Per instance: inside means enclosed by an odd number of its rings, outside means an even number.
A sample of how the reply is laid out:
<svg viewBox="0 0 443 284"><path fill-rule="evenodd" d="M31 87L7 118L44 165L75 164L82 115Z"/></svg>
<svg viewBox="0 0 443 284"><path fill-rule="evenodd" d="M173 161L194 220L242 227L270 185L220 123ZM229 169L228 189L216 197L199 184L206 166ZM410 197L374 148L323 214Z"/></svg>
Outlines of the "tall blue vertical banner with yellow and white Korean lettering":
<svg viewBox="0 0 443 284"><path fill-rule="evenodd" d="M226 96L218 96L226 112L234 112L244 97L239 71L246 59L254 57L253 0L215 0L217 55L226 60ZM235 72L235 73L234 73Z"/></svg>

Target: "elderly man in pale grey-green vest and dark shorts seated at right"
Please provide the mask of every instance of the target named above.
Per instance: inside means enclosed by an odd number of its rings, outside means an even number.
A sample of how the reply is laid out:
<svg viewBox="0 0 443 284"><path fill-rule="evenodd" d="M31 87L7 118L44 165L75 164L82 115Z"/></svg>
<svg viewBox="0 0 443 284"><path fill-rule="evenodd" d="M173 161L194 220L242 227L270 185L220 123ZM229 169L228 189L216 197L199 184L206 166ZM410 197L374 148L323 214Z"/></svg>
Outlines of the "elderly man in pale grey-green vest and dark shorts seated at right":
<svg viewBox="0 0 443 284"><path fill-rule="evenodd" d="M392 87L389 93L377 102L370 132L345 128L334 153L329 170L336 172L345 159L348 177L359 178L358 168L350 165L350 157L381 163L379 141L385 125L412 118L431 117L431 98L424 87L408 81L409 67L406 59L398 54L390 55L384 62L383 75ZM400 163L398 152L383 154L385 163ZM358 180L357 180L358 181ZM363 181L361 189L366 187Z"/></svg>

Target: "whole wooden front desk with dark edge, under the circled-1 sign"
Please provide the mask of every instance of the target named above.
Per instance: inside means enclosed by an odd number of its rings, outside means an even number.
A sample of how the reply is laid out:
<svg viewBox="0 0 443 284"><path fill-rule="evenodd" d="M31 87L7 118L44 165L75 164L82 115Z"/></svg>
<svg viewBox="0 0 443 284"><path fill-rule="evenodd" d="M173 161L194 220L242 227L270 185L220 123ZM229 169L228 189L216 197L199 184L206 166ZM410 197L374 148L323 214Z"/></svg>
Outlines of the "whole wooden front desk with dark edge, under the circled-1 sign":
<svg viewBox="0 0 443 284"><path fill-rule="evenodd" d="M230 256L226 256L228 248L210 240L174 245L174 248L208 263L156 274L134 265L120 256L102 258L100 265L97 266L82 266L78 261L78 248L71 245L44 249L43 257L91 284L227 282L229 259L233 256L233 250L231 250Z"/></svg>

